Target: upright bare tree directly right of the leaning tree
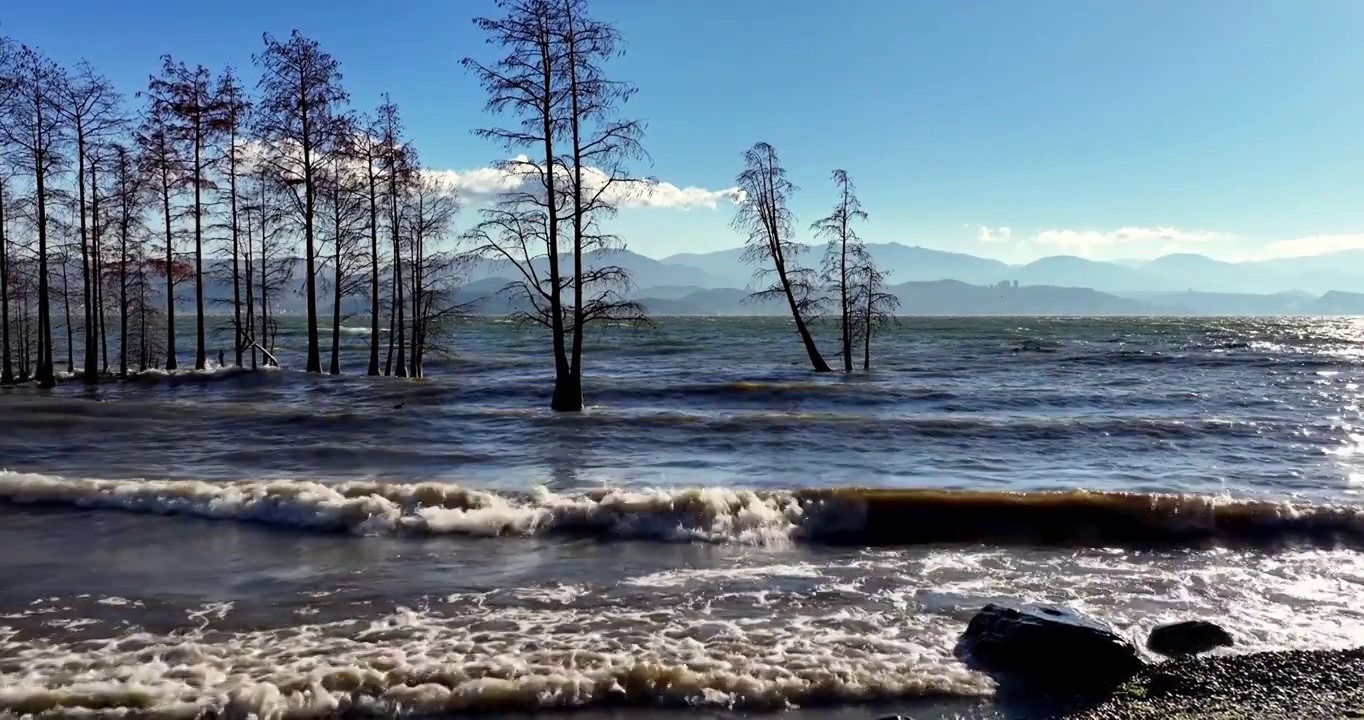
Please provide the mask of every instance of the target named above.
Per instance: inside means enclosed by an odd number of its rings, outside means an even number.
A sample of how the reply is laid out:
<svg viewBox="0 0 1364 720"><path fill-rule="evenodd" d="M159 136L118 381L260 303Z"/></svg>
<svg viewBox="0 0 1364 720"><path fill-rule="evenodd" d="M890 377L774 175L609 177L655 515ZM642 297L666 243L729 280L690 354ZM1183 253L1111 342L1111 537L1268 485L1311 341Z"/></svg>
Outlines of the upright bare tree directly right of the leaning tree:
<svg viewBox="0 0 1364 720"><path fill-rule="evenodd" d="M853 273L863 262L866 247L853 226L866 220L857 188L846 170L833 170L833 187L839 200L833 211L810 225L816 237L828 241L824 251L824 284L839 303L840 349L843 350L843 372L853 372L853 341L857 335L857 288Z"/></svg>

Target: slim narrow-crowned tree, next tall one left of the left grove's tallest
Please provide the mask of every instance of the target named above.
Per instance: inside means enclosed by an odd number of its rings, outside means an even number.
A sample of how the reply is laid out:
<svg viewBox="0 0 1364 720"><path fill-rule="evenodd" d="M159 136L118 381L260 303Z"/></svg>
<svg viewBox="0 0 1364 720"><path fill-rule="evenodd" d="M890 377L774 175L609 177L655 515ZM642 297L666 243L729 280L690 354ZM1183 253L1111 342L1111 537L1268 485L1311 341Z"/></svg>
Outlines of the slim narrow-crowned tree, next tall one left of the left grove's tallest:
<svg viewBox="0 0 1364 720"><path fill-rule="evenodd" d="M217 113L213 117L213 131L221 139L221 166L226 175L228 194L228 240L232 254L232 348L237 367L241 367L246 352L246 338L251 335L250 322L241 315L243 289L247 292L247 310L250 311L251 271L243 269L243 255L246 248L241 243L241 213L240 213L240 179L246 153L246 128L251 113L251 101L246 90L237 82L237 76L229 67L218 76L216 90ZM243 271L246 273L243 275ZM248 312L250 314L250 312Z"/></svg>

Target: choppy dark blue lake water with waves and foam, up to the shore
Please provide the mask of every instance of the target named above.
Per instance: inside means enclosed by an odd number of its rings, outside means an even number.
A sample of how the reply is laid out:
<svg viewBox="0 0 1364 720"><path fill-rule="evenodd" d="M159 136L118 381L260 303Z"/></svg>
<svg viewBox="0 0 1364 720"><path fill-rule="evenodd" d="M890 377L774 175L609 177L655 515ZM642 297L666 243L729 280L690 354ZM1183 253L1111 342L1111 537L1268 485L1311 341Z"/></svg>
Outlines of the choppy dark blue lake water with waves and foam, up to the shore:
<svg viewBox="0 0 1364 720"><path fill-rule="evenodd" d="M578 416L540 335L450 348L0 390L0 710L1008 716L952 656L996 599L1364 645L1360 320L914 319L816 376L664 319Z"/></svg>

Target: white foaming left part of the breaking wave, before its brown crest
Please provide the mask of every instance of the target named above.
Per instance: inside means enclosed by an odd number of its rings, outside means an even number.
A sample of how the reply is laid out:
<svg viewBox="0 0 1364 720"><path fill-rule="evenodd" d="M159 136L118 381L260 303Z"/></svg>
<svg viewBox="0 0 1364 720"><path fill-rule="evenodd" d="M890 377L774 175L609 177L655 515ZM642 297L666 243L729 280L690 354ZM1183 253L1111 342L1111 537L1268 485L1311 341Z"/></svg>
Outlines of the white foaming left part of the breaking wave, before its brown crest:
<svg viewBox="0 0 1364 720"><path fill-rule="evenodd" d="M241 520L357 535L536 535L784 544L805 509L788 494L730 488L503 495L446 483L89 480L0 472L0 500Z"/></svg>

